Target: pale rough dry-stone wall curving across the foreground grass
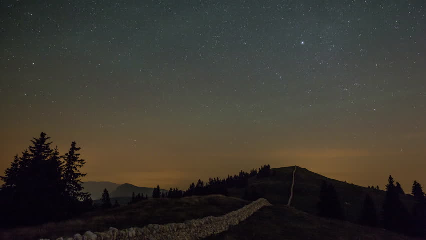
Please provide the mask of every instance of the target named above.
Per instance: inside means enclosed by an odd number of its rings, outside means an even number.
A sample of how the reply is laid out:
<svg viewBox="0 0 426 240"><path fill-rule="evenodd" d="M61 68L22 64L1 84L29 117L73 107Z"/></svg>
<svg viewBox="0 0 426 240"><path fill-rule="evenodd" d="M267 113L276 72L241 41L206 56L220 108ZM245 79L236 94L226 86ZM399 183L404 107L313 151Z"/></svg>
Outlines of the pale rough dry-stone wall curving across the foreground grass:
<svg viewBox="0 0 426 240"><path fill-rule="evenodd" d="M229 226L237 225L247 219L254 212L270 203L260 198L250 204L227 213L223 216L207 216L182 223L168 223L165 225L149 224L143 228L131 227L118 230L110 227L108 231L91 232L84 235L75 234L74 237L58 238L56 240L166 240L166 239L200 239L212 234L226 231ZM48 239L40 239L48 240Z"/></svg>

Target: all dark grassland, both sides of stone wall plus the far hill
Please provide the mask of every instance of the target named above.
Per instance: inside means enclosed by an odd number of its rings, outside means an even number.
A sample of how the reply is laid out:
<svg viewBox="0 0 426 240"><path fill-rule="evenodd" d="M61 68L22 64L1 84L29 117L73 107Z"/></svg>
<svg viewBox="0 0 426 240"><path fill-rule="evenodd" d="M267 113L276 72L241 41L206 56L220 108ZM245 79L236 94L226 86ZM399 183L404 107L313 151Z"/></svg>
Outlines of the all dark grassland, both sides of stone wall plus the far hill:
<svg viewBox="0 0 426 240"><path fill-rule="evenodd" d="M286 207L293 169L274 168L271 169L272 174L269 177L250 178L247 187L249 194L256 192L274 206L262 208L246 221L231 227L229 231L208 239L412 239L381 228L369 228L348 222L358 221L367 193L373 198L377 216L380 216L385 191L330 179L305 168L297 167L292 200L294 208ZM347 221L315 216L322 180L335 186ZM151 223L183 222L210 215L220 216L249 203L238 198L244 195L244 191L245 188L229 188L231 197L209 195L181 199L150 198L119 208L88 212L63 222L0 229L0 239L56 239L75 233L81 234L87 230L105 231L111 226L123 229L132 226L143 227ZM400 198L410 210L414 204L413 197L401 195ZM124 203L129 199L121 200Z"/></svg>

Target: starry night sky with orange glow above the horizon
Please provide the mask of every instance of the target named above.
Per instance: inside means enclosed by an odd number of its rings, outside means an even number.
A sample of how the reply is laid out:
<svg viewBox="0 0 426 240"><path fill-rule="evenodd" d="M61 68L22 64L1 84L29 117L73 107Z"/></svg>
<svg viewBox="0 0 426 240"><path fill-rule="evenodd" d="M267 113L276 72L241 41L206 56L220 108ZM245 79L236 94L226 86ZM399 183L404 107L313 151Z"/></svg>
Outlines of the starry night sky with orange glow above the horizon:
<svg viewBox="0 0 426 240"><path fill-rule="evenodd" d="M84 180L426 184L424 0L1 4L1 175L44 131Z"/></svg>

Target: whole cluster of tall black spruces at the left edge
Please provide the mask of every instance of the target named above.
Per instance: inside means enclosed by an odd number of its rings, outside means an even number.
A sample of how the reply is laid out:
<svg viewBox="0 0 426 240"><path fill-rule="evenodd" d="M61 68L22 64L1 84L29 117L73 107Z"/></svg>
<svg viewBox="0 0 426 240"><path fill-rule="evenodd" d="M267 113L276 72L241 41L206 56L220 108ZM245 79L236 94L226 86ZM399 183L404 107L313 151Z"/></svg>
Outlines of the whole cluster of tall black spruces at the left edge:
<svg viewBox="0 0 426 240"><path fill-rule="evenodd" d="M80 158L75 141L60 155L46 133L16 154L0 179L1 225L27 225L72 217L92 207L90 194L83 192Z"/></svg>

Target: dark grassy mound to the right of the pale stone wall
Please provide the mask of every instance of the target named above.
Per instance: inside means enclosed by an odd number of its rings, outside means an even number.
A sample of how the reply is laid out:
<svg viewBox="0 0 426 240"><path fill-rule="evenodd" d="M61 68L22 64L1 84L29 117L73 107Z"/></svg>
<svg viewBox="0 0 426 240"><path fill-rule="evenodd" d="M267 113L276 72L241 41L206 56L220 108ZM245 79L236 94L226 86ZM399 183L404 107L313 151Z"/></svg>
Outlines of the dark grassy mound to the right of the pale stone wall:
<svg viewBox="0 0 426 240"><path fill-rule="evenodd" d="M286 205L273 205L261 208L245 221L230 227L228 231L205 238L205 240L219 239L408 240L415 238L381 228L317 217Z"/></svg>

